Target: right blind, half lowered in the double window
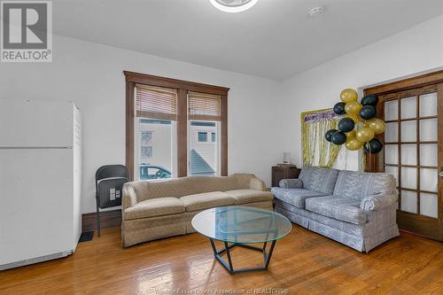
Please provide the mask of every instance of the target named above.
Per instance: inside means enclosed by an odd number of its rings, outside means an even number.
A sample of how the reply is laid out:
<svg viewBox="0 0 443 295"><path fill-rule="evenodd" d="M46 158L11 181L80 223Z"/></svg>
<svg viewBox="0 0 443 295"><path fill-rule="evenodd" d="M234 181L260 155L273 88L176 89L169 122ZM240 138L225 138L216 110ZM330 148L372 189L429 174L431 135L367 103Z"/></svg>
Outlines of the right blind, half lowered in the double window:
<svg viewBox="0 0 443 295"><path fill-rule="evenodd" d="M189 120L221 120L221 96L189 92Z"/></svg>

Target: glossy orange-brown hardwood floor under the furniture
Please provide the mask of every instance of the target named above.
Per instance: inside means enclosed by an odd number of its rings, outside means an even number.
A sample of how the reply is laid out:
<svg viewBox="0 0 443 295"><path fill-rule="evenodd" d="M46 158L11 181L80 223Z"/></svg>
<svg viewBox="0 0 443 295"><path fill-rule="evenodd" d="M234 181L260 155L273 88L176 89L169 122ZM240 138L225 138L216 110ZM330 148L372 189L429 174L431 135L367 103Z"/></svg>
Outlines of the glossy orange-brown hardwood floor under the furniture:
<svg viewBox="0 0 443 295"><path fill-rule="evenodd" d="M241 248L232 256L236 268L262 262L260 254ZM443 294L443 244L401 233L364 254L294 226L276 243L268 271L230 276L199 234L122 249L120 228L112 228L79 244L71 257L0 272L0 294L215 294L214 290Z"/></svg>

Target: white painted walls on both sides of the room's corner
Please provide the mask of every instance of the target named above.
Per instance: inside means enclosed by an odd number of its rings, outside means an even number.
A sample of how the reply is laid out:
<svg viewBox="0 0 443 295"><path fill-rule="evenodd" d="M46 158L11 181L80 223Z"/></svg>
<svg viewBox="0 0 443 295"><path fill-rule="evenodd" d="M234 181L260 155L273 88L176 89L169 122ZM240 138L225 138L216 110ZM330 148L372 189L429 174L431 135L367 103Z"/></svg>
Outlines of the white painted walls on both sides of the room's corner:
<svg viewBox="0 0 443 295"><path fill-rule="evenodd" d="M270 167L283 151L301 163L301 112L334 105L345 88L443 66L443 16L283 83L62 36L53 44L52 63L0 64L0 97L74 101L82 109L82 211L88 213L95 210L97 167L125 162L123 70L229 87L229 174L254 173L269 185ZM358 168L355 152L348 162Z"/></svg>

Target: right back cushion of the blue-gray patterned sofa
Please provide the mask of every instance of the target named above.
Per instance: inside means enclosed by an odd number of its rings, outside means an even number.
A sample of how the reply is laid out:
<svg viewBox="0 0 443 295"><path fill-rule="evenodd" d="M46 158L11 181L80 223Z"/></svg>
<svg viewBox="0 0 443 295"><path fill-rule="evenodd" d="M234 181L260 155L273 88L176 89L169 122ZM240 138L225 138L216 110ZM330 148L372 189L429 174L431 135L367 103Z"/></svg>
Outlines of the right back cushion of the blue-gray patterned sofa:
<svg viewBox="0 0 443 295"><path fill-rule="evenodd" d="M395 191L395 179L392 175L343 170L338 174L334 196L361 201L370 195L392 195Z"/></svg>

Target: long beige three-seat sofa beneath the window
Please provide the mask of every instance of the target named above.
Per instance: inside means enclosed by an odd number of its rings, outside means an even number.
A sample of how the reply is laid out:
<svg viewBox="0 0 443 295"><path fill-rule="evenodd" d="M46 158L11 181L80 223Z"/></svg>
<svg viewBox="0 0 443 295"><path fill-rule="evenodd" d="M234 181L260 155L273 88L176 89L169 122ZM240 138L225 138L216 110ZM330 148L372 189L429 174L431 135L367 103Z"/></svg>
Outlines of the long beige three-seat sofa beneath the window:
<svg viewBox="0 0 443 295"><path fill-rule="evenodd" d="M274 196L255 175L189 176L123 186L121 240L124 247L195 232L195 214L217 206L273 210Z"/></svg>

